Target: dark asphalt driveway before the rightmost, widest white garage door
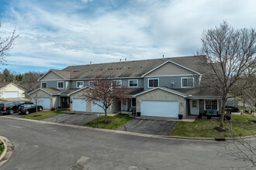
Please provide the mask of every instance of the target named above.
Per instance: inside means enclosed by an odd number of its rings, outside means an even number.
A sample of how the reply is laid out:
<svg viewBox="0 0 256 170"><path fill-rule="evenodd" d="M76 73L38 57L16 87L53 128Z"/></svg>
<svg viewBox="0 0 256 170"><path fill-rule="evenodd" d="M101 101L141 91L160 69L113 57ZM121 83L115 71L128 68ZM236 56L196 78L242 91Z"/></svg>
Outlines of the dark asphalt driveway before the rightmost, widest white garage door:
<svg viewBox="0 0 256 170"><path fill-rule="evenodd" d="M133 119L117 128L119 131L131 131L141 134L169 135L177 121Z"/></svg>

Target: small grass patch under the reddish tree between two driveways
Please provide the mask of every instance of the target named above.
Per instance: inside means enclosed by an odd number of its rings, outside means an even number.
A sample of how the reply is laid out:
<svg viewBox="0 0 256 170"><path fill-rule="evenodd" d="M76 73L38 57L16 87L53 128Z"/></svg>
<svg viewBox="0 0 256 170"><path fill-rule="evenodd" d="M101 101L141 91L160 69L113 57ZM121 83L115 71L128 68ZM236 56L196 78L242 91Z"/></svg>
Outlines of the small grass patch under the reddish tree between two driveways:
<svg viewBox="0 0 256 170"><path fill-rule="evenodd" d="M97 127L97 119L95 119L84 126L92 128L116 129L132 119L133 117L130 117L127 114L116 114L116 116L108 116L108 121L111 121L109 124L99 123ZM105 116L99 117L99 122L101 121L105 121Z"/></svg>

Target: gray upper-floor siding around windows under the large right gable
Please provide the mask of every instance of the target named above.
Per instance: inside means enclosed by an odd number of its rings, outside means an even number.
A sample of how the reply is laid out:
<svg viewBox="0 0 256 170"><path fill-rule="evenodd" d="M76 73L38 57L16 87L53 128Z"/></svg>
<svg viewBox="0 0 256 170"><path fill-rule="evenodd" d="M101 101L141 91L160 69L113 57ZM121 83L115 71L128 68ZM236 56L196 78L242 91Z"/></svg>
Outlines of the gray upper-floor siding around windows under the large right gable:
<svg viewBox="0 0 256 170"><path fill-rule="evenodd" d="M149 90L148 79L159 79L159 87L168 87L171 89L179 89L182 87L182 77L194 77L194 86L199 87L199 76L155 76L155 77L145 77L144 78L144 90ZM175 82L171 85L171 80Z"/></svg>

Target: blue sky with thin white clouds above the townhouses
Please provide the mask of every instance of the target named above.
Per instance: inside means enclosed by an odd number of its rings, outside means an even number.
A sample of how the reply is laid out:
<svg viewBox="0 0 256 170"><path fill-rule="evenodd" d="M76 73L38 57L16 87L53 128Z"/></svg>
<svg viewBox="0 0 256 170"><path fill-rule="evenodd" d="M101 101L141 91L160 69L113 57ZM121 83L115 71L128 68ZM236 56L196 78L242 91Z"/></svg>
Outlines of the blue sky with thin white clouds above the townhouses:
<svg viewBox="0 0 256 170"><path fill-rule="evenodd" d="M187 56L202 30L256 26L254 0L1 0L2 35L19 38L5 68L16 73L65 66Z"/></svg>

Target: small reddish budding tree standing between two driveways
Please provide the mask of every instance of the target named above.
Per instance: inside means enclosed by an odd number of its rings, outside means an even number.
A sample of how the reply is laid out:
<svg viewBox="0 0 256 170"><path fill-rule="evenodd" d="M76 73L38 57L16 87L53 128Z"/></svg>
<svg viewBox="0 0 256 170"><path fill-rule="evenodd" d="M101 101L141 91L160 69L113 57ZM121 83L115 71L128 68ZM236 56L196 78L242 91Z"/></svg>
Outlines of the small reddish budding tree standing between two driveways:
<svg viewBox="0 0 256 170"><path fill-rule="evenodd" d="M105 122L107 123L107 110L116 101L126 97L128 89L118 83L118 80L105 74L95 76L95 81L88 90L83 93L85 100L102 107L105 111Z"/></svg>

